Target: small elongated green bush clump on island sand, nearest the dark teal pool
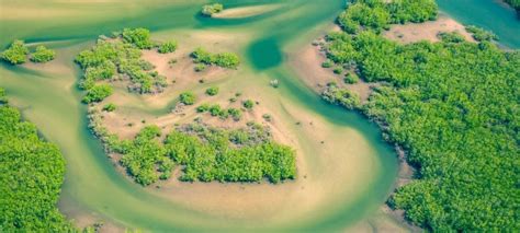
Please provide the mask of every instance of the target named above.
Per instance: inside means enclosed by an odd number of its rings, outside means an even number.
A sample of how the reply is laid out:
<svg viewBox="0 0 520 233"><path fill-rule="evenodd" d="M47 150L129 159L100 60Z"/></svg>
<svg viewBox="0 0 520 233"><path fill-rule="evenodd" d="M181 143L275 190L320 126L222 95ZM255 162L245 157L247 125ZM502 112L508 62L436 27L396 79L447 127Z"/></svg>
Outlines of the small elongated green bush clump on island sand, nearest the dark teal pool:
<svg viewBox="0 0 520 233"><path fill-rule="evenodd" d="M236 69L240 65L240 59L233 53L211 54L199 47L191 56L195 63L215 65L228 69Z"/></svg>

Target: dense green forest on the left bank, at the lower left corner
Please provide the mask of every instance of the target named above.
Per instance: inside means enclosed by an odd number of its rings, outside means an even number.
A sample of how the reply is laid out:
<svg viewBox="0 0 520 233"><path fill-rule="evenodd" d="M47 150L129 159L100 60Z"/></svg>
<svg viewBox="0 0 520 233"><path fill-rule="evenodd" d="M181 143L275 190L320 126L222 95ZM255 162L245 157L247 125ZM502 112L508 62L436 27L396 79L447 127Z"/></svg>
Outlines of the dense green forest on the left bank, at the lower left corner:
<svg viewBox="0 0 520 233"><path fill-rule="evenodd" d="M65 175L58 148L8 106L0 89L0 232L71 232L56 208Z"/></svg>

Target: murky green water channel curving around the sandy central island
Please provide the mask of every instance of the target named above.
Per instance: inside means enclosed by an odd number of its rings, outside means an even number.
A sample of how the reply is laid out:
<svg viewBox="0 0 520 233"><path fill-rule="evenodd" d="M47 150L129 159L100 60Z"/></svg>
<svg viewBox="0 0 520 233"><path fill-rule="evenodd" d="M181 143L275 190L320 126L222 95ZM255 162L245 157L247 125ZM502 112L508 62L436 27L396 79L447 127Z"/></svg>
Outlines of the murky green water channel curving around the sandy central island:
<svg viewBox="0 0 520 233"><path fill-rule="evenodd" d="M244 19L207 19L197 15L197 11L206 1L152 0L146 1L146 4L140 1L122 0L93 3L50 0L22 3L1 1L1 46L15 38L23 38L27 43L44 43L58 53L56 61L38 67L1 65L0 85L7 89L24 117L35 123L48 140L60 147L67 160L67 175L59 208L69 218L87 214L123 228L159 232L251 229L341 231L370 218L384 203L397 176L398 163L393 149L383 141L381 131L360 115L323 102L291 71L297 68L290 68L284 59L290 51L287 49L310 43L327 32L336 15L344 7L344 1L222 2L231 8L267 3L278 3L280 8ZM247 35L251 39L240 44L238 49L244 59L245 72L250 77L247 82L255 88L269 83L272 79L280 80L281 88L270 91L273 100L280 100L280 105L303 108L308 114L326 120L330 128L337 130L339 139L336 140L360 149L353 153L366 158L372 164L368 166L371 167L370 171L361 171L361 174L371 175L323 180L337 182L341 185L342 179L351 178L362 180L360 182L362 185L358 185L359 190L352 191L351 195L337 195L330 190L330 200L305 212L306 218L297 212L296 207L286 207L289 212L294 208L294 218L289 215L280 221L247 215L236 219L201 211L134 184L116 171L99 141L89 132L87 109L80 104L80 93L76 88L80 73L72 61L80 50L93 45L98 35L132 26L147 27L160 35L170 33L177 35L176 31L218 31L230 32L233 35ZM481 26L494 30L493 25ZM515 26L515 22L511 22L510 26ZM518 43L508 39L499 32L497 34L509 43L508 46ZM343 131L352 131L352 135L359 137L340 138L340 132ZM319 149L309 149L312 150ZM343 152L331 153L341 156ZM310 162L320 160L312 152L306 153L305 158ZM334 167L323 167L327 168ZM316 173L320 172L323 171ZM280 188L283 188L283 185Z"/></svg>

